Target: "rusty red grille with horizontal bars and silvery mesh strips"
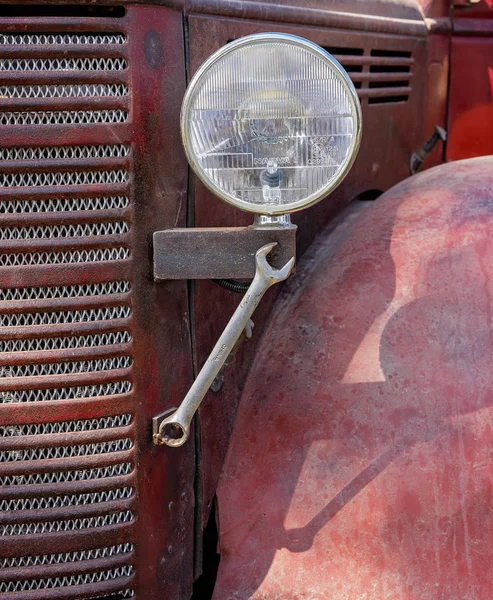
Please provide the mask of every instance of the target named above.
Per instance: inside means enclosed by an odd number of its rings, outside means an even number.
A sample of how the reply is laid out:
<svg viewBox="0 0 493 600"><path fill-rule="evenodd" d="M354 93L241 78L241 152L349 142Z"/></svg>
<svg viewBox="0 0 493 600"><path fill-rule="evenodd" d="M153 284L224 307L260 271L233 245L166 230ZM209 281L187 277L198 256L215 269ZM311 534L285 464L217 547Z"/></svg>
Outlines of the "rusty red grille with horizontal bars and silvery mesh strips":
<svg viewBox="0 0 493 600"><path fill-rule="evenodd" d="M134 595L127 21L91 21L0 19L1 599Z"/></svg>

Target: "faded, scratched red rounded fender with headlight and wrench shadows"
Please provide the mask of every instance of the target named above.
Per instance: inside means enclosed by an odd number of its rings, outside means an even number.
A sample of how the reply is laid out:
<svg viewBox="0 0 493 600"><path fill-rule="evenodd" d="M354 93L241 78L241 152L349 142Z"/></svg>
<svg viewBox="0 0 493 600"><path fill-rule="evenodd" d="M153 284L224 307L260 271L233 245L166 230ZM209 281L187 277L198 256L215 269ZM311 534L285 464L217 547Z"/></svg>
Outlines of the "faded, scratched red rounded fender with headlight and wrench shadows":
<svg viewBox="0 0 493 600"><path fill-rule="evenodd" d="M298 266L222 474L214 600L492 597L492 173L409 179Z"/></svg>

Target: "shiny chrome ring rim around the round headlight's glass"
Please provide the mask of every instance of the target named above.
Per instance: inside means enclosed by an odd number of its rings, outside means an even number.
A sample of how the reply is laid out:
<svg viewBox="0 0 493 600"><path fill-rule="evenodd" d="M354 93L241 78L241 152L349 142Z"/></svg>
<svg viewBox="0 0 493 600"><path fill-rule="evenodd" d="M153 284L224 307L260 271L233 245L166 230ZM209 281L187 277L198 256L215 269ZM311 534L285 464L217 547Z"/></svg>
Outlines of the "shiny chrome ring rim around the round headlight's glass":
<svg viewBox="0 0 493 600"><path fill-rule="evenodd" d="M309 50L323 61L328 63L332 68L335 75L339 78L341 83L345 86L346 91L348 92L348 96L353 107L352 116L355 117L355 130L351 139L351 144L349 150L344 159L344 163L339 168L337 172L337 176L334 177L331 181L329 181L324 187L320 188L313 194L307 196L302 200L298 200L296 202L291 202L288 204L282 205L261 205L261 204L253 204L250 202L245 202L238 198L232 198L229 196L222 188L215 185L214 182L206 176L201 165L196 159L195 154L191 151L191 136L190 136L190 120L191 120L191 111L190 105L194 98L195 91L197 87L200 85L202 78L207 74L208 70L214 66L216 63L221 61L225 56L234 52L238 48L242 48L245 46L254 45L256 43L278 43L285 42L288 44L292 44L294 46L298 46L305 50ZM300 210L304 210L305 208L309 208L317 204L320 200L328 196L331 192L333 192L343 181L343 179L348 174L349 170L353 166L353 163L358 154L358 149L361 143L361 134L362 134L362 113L361 113L361 104L358 98L358 94L354 87L353 82L349 78L348 74L342 67L342 65L326 50L318 46L317 44L310 42L309 40L292 35L289 33L277 33L277 32L268 32L268 33L255 33L252 35L248 35L229 44L226 44L219 50L217 50L214 54L212 54L197 70L195 75L192 77L190 84L185 92L185 96L183 98L183 103L181 107L180 114L180 129L181 129L181 138L183 147L185 150L185 155L187 160L192 167L192 170L197 175L197 177L201 180L201 182L205 185L205 187L212 192L215 196L219 197L221 200L226 202L231 206L235 206L240 210L260 214L260 215L281 215L292 212L297 212Z"/></svg>

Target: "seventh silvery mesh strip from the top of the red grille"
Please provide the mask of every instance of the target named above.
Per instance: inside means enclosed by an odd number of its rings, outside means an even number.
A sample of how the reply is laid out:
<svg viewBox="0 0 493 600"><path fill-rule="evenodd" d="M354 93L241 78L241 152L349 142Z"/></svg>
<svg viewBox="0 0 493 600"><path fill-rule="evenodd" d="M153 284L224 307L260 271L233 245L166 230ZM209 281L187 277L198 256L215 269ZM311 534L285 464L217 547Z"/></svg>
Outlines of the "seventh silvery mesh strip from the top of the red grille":
<svg viewBox="0 0 493 600"><path fill-rule="evenodd" d="M56 200L8 200L0 201L0 212L38 213L70 212L75 210L111 210L126 208L126 196L105 196L103 198L60 198Z"/></svg>

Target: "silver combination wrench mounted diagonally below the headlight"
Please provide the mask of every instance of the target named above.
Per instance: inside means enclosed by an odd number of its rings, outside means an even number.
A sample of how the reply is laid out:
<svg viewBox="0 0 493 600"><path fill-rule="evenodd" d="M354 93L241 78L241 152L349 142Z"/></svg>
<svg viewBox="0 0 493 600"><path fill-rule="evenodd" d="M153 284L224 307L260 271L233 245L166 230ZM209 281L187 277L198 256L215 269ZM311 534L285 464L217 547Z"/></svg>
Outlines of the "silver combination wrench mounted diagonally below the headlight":
<svg viewBox="0 0 493 600"><path fill-rule="evenodd" d="M267 255L277 244L262 246L255 255L255 277L245 296L226 325L217 344L214 346L197 379L178 409L164 419L159 426L157 442L168 446L183 445L190 434L192 418L202 402L207 390L221 370L236 341L245 329L262 296L271 285L289 277L294 266L291 258L282 269L274 269L267 262Z"/></svg>

